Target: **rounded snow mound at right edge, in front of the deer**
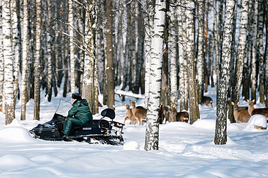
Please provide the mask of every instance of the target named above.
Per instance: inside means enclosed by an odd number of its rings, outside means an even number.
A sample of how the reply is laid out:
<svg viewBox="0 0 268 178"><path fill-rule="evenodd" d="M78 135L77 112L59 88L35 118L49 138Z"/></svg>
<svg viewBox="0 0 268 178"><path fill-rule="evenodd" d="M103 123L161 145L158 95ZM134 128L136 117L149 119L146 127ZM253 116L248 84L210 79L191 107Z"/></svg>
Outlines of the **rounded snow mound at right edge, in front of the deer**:
<svg viewBox="0 0 268 178"><path fill-rule="evenodd" d="M267 118L264 115L261 114L252 115L244 131L256 131L257 127L267 128Z"/></svg>

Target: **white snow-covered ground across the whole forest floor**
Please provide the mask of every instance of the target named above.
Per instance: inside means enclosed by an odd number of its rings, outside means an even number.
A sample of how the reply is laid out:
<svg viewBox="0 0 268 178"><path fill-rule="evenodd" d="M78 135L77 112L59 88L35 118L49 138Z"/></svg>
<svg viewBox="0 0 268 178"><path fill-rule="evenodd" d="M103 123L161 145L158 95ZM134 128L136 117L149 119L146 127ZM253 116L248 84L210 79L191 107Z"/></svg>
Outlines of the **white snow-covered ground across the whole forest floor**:
<svg viewBox="0 0 268 178"><path fill-rule="evenodd" d="M0 177L268 177L268 131L261 115L249 123L227 125L226 145L213 143L216 95L210 88L206 96L213 107L200 106L201 120L189 125L175 122L160 125L159 150L146 152L145 125L127 121L125 144L112 146L81 142L44 141L32 138L28 130L51 120L60 97L47 102L41 97L40 121L33 121L33 100L27 104L27 120L20 121L20 103L16 120L5 126L0 113ZM126 102L116 100L116 121L124 122ZM65 100L70 100L70 94ZM247 102L240 101L241 106ZM143 105L138 100L137 105ZM263 105L257 104L256 107ZM103 110L104 108L100 108ZM100 114L93 116L100 118Z"/></svg>

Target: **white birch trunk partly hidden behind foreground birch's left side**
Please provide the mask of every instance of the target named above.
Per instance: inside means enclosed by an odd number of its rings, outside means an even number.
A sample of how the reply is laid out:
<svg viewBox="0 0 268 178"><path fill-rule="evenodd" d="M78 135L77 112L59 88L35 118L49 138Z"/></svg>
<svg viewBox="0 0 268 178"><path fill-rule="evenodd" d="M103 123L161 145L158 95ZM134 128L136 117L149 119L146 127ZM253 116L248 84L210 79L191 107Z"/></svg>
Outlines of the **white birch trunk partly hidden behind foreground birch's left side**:
<svg viewBox="0 0 268 178"><path fill-rule="evenodd" d="M147 4L148 14L145 17L145 108L148 108L149 91L150 91L150 67L151 67L151 43L152 43L152 27L154 23L154 1Z"/></svg>

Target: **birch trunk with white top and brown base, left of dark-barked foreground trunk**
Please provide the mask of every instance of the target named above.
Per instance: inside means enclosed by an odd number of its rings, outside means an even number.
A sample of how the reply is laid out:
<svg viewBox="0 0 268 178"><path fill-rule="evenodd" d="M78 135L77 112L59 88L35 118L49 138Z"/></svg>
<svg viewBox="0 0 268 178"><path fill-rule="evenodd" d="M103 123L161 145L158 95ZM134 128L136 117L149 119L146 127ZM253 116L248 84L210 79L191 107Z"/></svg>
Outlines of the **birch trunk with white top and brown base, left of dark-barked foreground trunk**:
<svg viewBox="0 0 268 178"><path fill-rule="evenodd" d="M190 104L190 124L193 124L200 118L198 108L198 91L196 81L196 65L194 62L194 44L193 44L193 8L194 4L190 1L186 1L186 6L189 7L185 10L186 16L186 55L187 55L187 74L188 74L188 91L189 91L189 104ZM188 38L187 38L188 37Z"/></svg>

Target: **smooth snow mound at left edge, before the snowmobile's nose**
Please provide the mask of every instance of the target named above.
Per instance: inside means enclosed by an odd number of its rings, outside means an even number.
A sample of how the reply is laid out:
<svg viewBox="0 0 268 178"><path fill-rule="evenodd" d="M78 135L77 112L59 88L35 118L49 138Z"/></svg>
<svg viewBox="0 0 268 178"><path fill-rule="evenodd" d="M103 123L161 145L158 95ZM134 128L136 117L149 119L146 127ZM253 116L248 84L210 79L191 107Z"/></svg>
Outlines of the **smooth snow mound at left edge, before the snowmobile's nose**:
<svg viewBox="0 0 268 178"><path fill-rule="evenodd" d="M38 141L31 137L27 129L22 127L5 127L0 129L0 140L6 143L29 143Z"/></svg>

